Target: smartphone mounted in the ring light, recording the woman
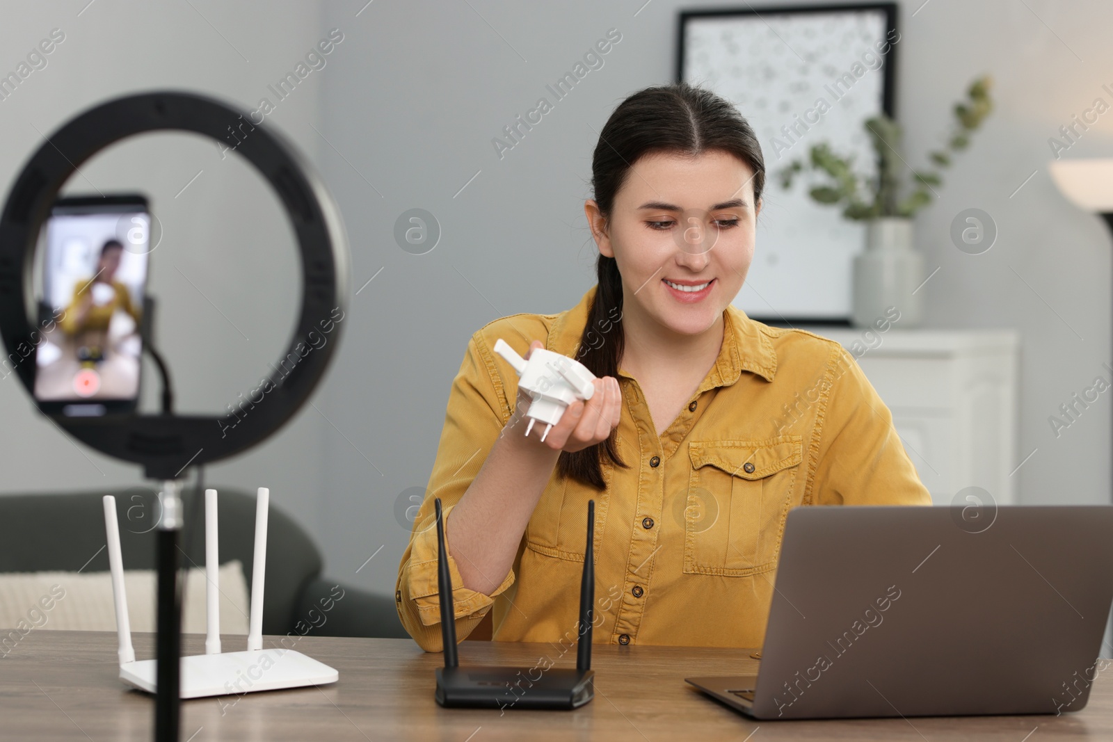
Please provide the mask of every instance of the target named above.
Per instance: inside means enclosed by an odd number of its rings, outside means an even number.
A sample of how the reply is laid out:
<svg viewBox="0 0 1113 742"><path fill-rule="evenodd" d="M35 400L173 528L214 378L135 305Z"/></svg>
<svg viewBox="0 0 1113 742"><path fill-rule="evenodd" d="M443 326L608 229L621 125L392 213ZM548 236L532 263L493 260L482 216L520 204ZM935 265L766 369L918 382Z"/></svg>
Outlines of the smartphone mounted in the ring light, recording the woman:
<svg viewBox="0 0 1113 742"><path fill-rule="evenodd" d="M48 415L135 413L150 212L140 194L58 199L43 227L35 399Z"/></svg>

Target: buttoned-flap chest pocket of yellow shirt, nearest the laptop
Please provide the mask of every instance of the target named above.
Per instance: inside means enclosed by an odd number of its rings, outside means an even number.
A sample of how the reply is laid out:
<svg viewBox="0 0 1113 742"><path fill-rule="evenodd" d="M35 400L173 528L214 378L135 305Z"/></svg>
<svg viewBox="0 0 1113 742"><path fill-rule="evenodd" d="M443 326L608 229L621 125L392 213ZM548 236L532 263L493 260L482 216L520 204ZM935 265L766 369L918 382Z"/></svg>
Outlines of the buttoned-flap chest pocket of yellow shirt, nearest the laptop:
<svg viewBox="0 0 1113 742"><path fill-rule="evenodd" d="M684 572L748 576L776 567L785 517L801 499L802 437L692 441Z"/></svg>

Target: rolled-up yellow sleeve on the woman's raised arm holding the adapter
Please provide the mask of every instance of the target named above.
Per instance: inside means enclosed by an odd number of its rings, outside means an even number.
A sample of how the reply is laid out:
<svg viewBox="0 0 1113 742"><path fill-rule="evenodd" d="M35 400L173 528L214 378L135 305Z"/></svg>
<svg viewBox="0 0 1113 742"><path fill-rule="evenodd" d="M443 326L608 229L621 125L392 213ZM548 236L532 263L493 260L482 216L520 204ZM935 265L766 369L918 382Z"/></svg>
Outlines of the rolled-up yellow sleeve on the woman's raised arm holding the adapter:
<svg viewBox="0 0 1113 742"><path fill-rule="evenodd" d="M516 395L514 388L509 392ZM395 592L398 617L414 641L427 652L443 650L434 501L441 498L447 521L510 418L506 399L508 390L503 387L493 354L482 335L476 333L469 342L460 372L452 382L436 461L425 488L425 498L414 518L410 545L398 566ZM447 562L452 574L456 639L463 641L491 610L494 597L513 584L514 573L513 570L508 572L502 584L487 595L464 587L451 545Z"/></svg>

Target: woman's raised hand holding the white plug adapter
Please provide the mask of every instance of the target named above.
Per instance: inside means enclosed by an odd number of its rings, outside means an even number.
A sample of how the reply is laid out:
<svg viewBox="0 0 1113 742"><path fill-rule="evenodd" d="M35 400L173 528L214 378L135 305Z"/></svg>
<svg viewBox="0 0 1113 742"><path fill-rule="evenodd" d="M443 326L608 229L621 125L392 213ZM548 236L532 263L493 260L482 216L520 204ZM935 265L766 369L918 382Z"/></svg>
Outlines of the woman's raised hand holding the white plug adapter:
<svg viewBox="0 0 1113 742"><path fill-rule="evenodd" d="M529 358L534 348L543 347L544 344L541 340L533 340L525 357ZM613 376L597 378L592 384L595 385L595 393L591 395L591 399L587 402L577 399L570 404L561 415L560 422L549 431L544 441L541 441L541 436L545 432L545 426L541 423L533 424L529 436L523 435L525 426L529 425L525 412L533 404L533 397L530 396L529 392L519 387L518 412L506 424L508 435L519 438L529 437L533 445L569 453L602 443L610 437L611 431L618 427L622 414L622 392L618 379Z"/></svg>

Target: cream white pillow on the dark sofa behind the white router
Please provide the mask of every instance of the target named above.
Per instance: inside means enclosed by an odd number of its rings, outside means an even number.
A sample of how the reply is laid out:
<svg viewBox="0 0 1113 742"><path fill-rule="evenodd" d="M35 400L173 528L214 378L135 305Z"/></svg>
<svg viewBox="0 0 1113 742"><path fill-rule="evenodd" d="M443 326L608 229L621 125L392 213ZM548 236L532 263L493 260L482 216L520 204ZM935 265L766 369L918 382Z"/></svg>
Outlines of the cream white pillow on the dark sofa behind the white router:
<svg viewBox="0 0 1113 742"><path fill-rule="evenodd" d="M248 597L243 565L238 560L228 562L219 575L220 633L246 634ZM155 631L156 584L154 570L124 571L131 631ZM205 570L191 567L181 605L184 633L205 633ZM111 574L0 573L0 627L116 631Z"/></svg>

